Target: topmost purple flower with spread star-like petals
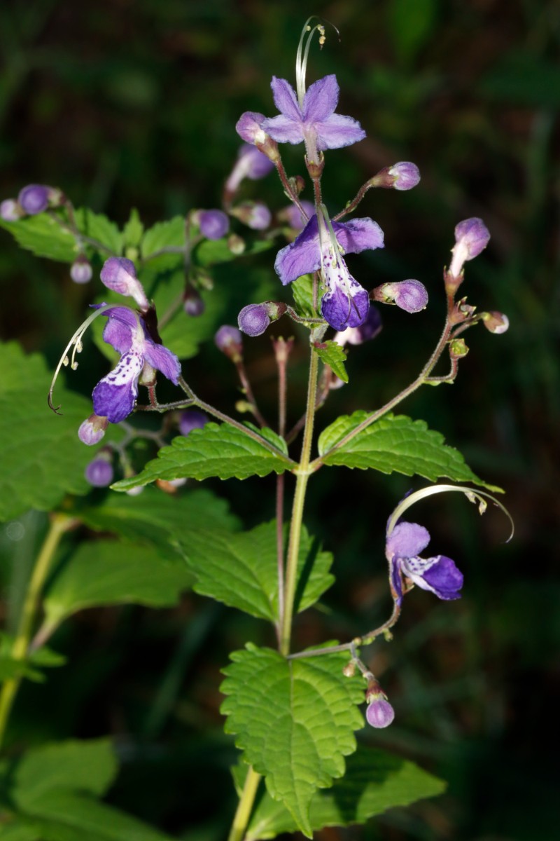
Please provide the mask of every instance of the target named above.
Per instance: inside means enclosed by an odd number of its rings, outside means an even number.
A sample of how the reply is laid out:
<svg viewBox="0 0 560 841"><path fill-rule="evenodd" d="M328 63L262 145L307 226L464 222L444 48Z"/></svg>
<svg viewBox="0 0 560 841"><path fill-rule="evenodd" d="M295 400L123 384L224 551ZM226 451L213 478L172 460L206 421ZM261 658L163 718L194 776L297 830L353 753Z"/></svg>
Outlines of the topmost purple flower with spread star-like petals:
<svg viewBox="0 0 560 841"><path fill-rule="evenodd" d="M301 103L285 79L272 77L270 87L280 115L264 119L261 127L279 143L305 141L308 161L317 161L318 151L364 140L365 132L358 120L334 113L339 88L333 74L313 82Z"/></svg>

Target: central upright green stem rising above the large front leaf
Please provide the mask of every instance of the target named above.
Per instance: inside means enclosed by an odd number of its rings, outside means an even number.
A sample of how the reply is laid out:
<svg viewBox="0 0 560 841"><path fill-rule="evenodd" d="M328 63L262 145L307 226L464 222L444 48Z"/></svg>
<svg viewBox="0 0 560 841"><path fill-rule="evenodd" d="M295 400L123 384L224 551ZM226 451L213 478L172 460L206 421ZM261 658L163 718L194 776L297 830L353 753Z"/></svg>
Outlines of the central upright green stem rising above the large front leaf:
<svg viewBox="0 0 560 841"><path fill-rule="evenodd" d="M285 569L284 616L280 632L280 653L287 656L290 653L291 622L294 614L294 599L297 584L297 561L300 553L301 521L303 507L306 500L307 481L313 473L310 469L311 442L313 438L313 423L315 421L315 406L317 398L317 374L319 357L311 346L311 362L309 365L309 384L307 388L306 426L303 431L301 459L296 473L296 491L291 512L290 543Z"/></svg>

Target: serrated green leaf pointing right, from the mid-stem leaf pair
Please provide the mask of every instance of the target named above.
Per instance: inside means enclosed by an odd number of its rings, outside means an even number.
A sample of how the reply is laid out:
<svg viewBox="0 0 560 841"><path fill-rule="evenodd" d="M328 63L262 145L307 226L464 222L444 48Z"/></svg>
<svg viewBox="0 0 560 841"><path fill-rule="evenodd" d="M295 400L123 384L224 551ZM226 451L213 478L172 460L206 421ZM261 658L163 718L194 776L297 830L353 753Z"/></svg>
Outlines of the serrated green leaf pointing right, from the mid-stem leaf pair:
<svg viewBox="0 0 560 841"><path fill-rule="evenodd" d="M385 415L329 455L331 448L368 415L362 410L342 415L322 431L318 448L323 463L362 470L372 468L380 473L395 471L405 476L417 473L432 482L447 477L453 482L472 482L500 491L479 479L465 464L461 453L447 447L441 432L429 430L424 421L411 421L406 415Z"/></svg>

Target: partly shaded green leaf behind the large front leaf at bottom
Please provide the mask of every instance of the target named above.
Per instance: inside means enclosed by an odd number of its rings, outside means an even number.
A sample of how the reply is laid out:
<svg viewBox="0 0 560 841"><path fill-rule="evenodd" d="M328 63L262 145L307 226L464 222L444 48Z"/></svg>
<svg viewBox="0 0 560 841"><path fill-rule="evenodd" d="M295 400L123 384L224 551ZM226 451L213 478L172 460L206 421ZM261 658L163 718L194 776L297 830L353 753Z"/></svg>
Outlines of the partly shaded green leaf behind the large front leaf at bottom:
<svg viewBox="0 0 560 841"><path fill-rule="evenodd" d="M238 784L243 784L243 769L234 769ZM383 750L359 745L347 760L346 774L335 780L332 789L317 791L311 800L311 829L348 827L365 823L387 809L409 806L424 797L445 791L446 784L413 762ZM275 838L293 833L297 824L290 812L264 792L251 815L246 841Z"/></svg>

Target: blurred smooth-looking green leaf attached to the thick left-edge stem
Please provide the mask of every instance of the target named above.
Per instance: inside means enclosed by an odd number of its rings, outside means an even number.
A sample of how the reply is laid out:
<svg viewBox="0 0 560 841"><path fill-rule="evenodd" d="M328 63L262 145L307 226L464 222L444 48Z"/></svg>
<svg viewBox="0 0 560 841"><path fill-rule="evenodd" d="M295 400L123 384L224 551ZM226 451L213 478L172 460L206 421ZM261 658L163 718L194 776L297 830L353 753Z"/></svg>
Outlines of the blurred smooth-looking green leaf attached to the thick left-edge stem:
<svg viewBox="0 0 560 841"><path fill-rule="evenodd" d="M191 582L185 564L163 559L157 548L118 540L81 543L46 590L45 621L57 626L100 605L176 605Z"/></svg>

